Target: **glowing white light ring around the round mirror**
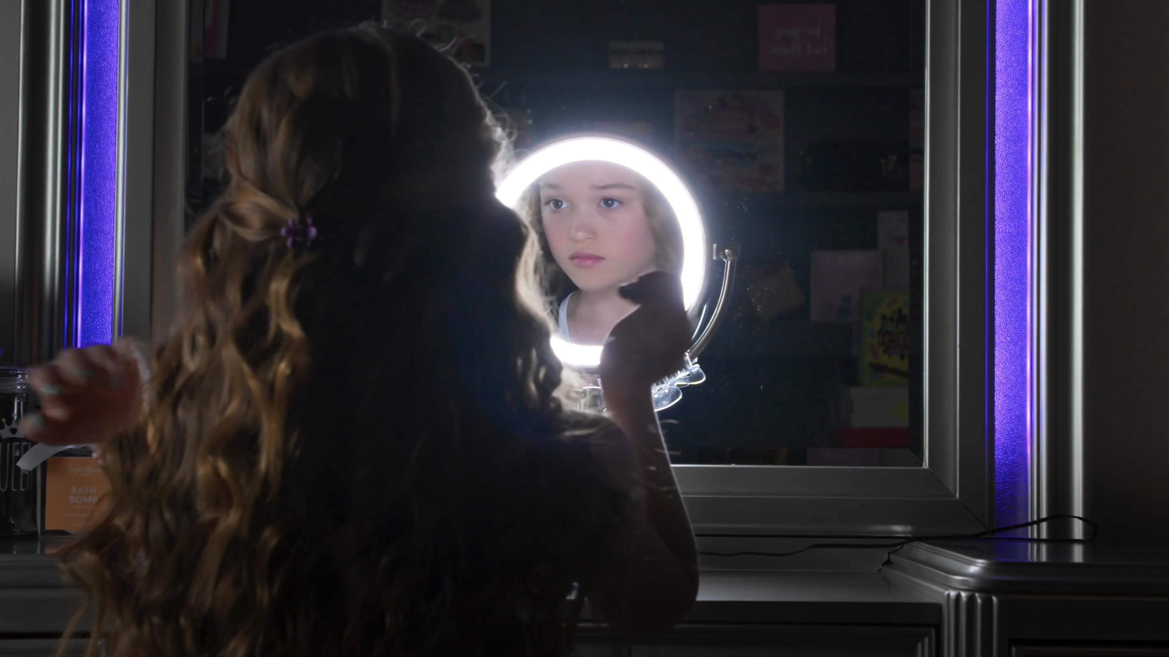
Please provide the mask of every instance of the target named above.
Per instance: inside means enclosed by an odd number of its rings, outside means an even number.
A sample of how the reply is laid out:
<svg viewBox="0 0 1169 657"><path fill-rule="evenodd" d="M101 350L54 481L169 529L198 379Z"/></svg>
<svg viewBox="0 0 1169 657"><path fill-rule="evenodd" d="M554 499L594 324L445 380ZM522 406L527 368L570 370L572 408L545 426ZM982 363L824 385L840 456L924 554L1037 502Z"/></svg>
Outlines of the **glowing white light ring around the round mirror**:
<svg viewBox="0 0 1169 657"><path fill-rule="evenodd" d="M516 207L527 189L545 173L572 162L600 160L621 165L658 188L678 217L682 230L682 299L691 311L706 281L706 229L698 202L670 165L645 148L613 137L572 137L539 148L519 162L496 189L496 198ZM553 336L552 348L562 362L581 367L601 364L601 347L574 345Z"/></svg>

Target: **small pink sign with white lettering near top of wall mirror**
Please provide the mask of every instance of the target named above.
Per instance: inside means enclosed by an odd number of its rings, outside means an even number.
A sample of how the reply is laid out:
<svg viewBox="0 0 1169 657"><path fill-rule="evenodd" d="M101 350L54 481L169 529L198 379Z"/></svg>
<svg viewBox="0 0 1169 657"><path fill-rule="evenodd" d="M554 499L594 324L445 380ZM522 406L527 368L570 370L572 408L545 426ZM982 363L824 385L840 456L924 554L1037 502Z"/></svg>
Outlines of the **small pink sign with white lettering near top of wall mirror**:
<svg viewBox="0 0 1169 657"><path fill-rule="evenodd" d="M836 5L759 8L760 70L836 70Z"/></svg>

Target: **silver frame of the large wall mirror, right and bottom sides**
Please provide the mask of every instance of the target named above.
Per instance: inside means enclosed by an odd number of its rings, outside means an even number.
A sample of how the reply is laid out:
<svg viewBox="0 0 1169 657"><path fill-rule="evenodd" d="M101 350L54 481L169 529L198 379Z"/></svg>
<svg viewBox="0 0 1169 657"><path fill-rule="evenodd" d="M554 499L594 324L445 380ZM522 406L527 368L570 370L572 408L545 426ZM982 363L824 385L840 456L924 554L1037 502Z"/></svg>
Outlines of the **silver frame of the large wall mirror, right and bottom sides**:
<svg viewBox="0 0 1169 657"><path fill-rule="evenodd" d="M700 535L949 534L990 521L994 5L926 1L924 466L676 465Z"/></svg>

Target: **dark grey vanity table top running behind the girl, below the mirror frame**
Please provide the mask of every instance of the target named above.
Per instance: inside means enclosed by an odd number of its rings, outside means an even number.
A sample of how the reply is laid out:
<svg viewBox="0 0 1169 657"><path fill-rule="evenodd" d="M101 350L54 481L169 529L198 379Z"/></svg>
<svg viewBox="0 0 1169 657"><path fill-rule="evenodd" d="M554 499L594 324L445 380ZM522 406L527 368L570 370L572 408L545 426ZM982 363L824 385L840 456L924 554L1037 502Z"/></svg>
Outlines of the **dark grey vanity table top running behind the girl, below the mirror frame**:
<svg viewBox="0 0 1169 657"><path fill-rule="evenodd" d="M49 618L46 623L68 618L77 594L62 581L53 555L64 540L0 539L0 611L26 610L27 616L40 610ZM705 569L698 602L686 622L935 627L942 615L939 588L1169 595L1169 549L1164 548L938 541L906 546L880 572L867 567L843 572ZM0 631L7 627L5 617L0 614ZM35 618L21 622L26 621Z"/></svg>

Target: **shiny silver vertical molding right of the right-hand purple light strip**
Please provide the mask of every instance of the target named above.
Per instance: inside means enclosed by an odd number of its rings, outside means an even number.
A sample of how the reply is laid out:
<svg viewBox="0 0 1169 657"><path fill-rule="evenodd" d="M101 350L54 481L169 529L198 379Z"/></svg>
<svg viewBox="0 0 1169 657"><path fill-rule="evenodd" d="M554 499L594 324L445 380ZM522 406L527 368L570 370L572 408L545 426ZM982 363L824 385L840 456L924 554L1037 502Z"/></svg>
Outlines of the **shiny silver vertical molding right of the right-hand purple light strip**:
<svg viewBox="0 0 1169 657"><path fill-rule="evenodd" d="M1031 519L1086 516L1084 491L1084 0L1035 0L1038 299L1031 430ZM1075 521L1042 538L1086 538Z"/></svg>

